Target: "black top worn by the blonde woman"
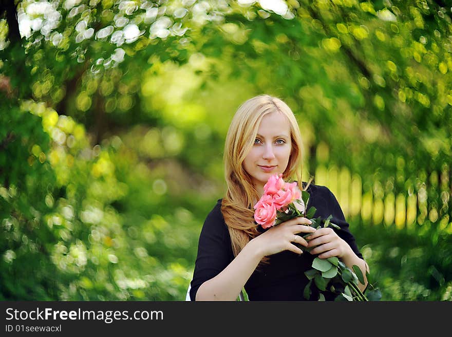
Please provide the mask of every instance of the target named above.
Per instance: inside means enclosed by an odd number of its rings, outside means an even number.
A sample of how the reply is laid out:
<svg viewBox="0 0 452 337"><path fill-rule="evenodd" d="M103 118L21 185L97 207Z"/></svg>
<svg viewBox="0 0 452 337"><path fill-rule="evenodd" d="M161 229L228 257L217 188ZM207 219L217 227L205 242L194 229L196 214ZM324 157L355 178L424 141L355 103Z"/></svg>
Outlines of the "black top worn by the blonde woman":
<svg viewBox="0 0 452 337"><path fill-rule="evenodd" d="M326 219L331 214L331 222L341 227L334 231L349 244L357 256L363 258L348 229L344 213L331 191L325 186L311 184L307 192L310 194L308 209L311 206L317 209L314 218ZM304 272L311 268L314 257L308 252L298 256L288 250L270 255L270 263L261 264L245 284L248 298L250 301L305 301L303 290L308 278ZM221 213L219 199L202 226L191 282L191 300L195 300L198 288L205 281L218 275L233 259L231 237Z"/></svg>

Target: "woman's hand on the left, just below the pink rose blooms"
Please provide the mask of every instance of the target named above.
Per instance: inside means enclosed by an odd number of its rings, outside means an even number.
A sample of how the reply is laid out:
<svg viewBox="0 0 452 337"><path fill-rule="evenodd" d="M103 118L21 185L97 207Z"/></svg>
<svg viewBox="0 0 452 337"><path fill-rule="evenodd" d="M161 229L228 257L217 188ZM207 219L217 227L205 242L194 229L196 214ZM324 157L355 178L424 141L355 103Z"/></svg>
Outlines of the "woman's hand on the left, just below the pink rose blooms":
<svg viewBox="0 0 452 337"><path fill-rule="evenodd" d="M314 233L315 229L306 226L311 224L311 220L303 217L296 217L285 222L281 222L275 227L252 239L249 244L254 245L262 257L273 255L284 250L290 250L296 254L303 251L292 242L307 247L308 242L298 233Z"/></svg>

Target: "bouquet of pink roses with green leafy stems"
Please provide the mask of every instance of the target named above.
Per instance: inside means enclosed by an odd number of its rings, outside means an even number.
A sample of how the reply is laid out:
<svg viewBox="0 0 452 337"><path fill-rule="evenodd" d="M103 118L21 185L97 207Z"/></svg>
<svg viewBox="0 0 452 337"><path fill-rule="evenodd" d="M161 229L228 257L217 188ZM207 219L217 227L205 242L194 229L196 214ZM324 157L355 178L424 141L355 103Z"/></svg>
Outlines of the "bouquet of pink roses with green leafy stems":
<svg viewBox="0 0 452 337"><path fill-rule="evenodd" d="M285 182L283 175L273 175L264 185L264 193L259 201L254 205L254 220L260 224L263 229L277 226L279 223L287 221L297 216L303 216L311 220L311 227L315 229L322 227L331 227L340 229L331 222L332 216L326 219L321 217L313 218L316 208L310 207L307 210L309 193L300 191L296 188L296 182ZM304 234L306 238L310 233ZM300 247L300 246L299 246ZM300 247L303 250L312 248ZM315 257L312 263L312 269L305 272L309 279L304 289L306 299L312 297L318 301L325 301L325 294L333 294L335 301L378 301L381 298L381 292L375 289L370 283L371 288L367 296L358 288L357 283L364 285L364 276L361 269L354 265L352 269L348 268L337 257L321 259ZM369 281L369 273L366 272Z"/></svg>

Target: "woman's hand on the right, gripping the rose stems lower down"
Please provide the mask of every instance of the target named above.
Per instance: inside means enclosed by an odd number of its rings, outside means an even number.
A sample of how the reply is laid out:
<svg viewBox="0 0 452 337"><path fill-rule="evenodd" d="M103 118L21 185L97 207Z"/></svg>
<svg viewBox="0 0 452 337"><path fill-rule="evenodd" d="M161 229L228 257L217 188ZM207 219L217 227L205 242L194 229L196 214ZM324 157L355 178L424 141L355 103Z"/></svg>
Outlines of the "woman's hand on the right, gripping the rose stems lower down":
<svg viewBox="0 0 452 337"><path fill-rule="evenodd" d="M347 242L329 227L319 228L314 234L307 236L306 239L308 240L307 247L314 247L310 253L319 254L319 258L332 256L342 258L353 253Z"/></svg>

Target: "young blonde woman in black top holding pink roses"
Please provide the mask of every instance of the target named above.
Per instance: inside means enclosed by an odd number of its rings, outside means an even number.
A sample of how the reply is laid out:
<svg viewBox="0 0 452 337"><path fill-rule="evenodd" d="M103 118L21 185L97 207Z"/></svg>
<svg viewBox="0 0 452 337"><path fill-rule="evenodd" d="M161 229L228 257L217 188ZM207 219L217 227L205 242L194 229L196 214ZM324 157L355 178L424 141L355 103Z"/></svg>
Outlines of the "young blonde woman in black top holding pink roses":
<svg viewBox="0 0 452 337"><path fill-rule="evenodd" d="M302 140L287 104L269 95L244 102L229 127L223 159L227 192L201 230L192 301L235 301L243 287L250 301L304 301L304 272L315 256L337 256L366 274L368 266L334 195L325 186L302 182ZM314 230L304 217L262 230L254 222L253 206L268 178L279 173L310 193L307 207L317 209L315 218L331 214L341 230ZM309 243L298 233L312 233ZM314 248L304 252L295 243Z"/></svg>

